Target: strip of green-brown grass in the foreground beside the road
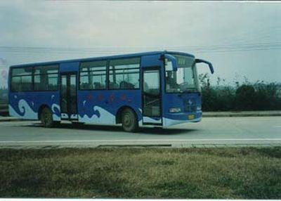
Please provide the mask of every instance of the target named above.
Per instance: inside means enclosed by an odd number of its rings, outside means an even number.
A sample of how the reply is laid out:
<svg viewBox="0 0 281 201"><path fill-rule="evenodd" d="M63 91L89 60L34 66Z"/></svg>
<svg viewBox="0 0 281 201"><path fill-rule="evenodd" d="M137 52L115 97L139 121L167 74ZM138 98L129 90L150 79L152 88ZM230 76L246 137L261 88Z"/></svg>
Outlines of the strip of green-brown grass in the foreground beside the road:
<svg viewBox="0 0 281 201"><path fill-rule="evenodd" d="M0 150L0 197L281 198L281 147Z"/></svg>

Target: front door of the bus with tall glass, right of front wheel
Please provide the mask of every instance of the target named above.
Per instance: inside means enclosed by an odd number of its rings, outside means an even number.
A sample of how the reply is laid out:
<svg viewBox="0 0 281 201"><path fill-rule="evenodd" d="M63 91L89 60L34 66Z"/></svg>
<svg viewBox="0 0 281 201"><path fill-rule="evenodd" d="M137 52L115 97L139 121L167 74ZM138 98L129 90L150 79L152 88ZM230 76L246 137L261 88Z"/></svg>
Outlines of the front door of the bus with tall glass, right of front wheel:
<svg viewBox="0 0 281 201"><path fill-rule="evenodd" d="M143 124L162 125L160 68L143 68Z"/></svg>

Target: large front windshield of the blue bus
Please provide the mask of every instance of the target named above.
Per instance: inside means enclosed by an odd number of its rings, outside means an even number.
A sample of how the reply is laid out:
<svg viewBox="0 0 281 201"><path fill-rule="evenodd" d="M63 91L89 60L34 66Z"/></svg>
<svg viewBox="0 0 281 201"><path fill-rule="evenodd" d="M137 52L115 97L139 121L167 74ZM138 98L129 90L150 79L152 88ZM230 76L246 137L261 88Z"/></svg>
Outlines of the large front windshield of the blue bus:
<svg viewBox="0 0 281 201"><path fill-rule="evenodd" d="M170 61L166 60L166 93L198 92L195 58L173 55L178 61L178 70L173 71Z"/></svg>

